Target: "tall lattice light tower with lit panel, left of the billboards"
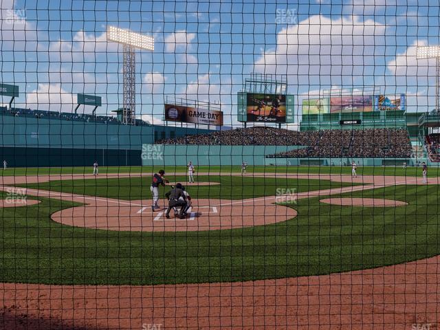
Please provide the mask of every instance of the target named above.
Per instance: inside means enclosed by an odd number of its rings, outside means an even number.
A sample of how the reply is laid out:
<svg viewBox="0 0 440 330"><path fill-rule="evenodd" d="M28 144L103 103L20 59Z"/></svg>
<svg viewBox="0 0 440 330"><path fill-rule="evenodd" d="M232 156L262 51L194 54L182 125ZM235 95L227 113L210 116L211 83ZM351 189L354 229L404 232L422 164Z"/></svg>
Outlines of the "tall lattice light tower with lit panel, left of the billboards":
<svg viewBox="0 0 440 330"><path fill-rule="evenodd" d="M135 50L154 50L154 39L152 36L144 36L123 30L114 26L107 27L107 40L120 43L124 47L124 61L122 66L123 100L122 100L122 122L134 124L136 115L136 77Z"/></svg>

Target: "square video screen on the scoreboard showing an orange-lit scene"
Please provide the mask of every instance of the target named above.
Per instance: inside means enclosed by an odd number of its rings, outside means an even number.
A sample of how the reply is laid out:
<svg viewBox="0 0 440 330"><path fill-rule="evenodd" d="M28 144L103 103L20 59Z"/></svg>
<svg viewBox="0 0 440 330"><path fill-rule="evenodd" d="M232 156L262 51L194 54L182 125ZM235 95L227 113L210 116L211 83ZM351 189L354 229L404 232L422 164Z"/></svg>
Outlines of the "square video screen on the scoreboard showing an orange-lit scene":
<svg viewBox="0 0 440 330"><path fill-rule="evenodd" d="M277 94L248 94L248 122L286 122L286 96Z"/></svg>

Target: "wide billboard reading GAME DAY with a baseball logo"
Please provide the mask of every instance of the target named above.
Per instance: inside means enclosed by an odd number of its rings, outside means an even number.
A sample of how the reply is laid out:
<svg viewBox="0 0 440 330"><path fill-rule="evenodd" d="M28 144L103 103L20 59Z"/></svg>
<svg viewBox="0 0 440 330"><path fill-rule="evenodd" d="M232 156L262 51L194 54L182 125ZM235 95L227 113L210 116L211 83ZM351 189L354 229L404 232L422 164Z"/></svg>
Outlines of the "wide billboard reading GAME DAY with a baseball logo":
<svg viewBox="0 0 440 330"><path fill-rule="evenodd" d="M190 124L223 125L223 111L165 104L165 120Z"/></svg>

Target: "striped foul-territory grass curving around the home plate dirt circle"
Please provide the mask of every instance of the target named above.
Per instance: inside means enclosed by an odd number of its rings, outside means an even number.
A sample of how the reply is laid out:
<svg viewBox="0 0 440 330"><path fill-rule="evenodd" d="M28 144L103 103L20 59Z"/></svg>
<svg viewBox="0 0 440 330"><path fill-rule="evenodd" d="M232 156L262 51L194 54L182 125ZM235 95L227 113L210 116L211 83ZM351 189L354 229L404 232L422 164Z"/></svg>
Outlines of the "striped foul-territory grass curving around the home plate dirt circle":
<svg viewBox="0 0 440 330"><path fill-rule="evenodd" d="M5 193L0 193L5 197ZM73 228L50 214L74 205L40 198L3 208L0 281L151 285L248 281L361 270L440 253L439 186L342 194L407 201L398 208L289 205L283 223L205 232L114 232ZM34 197L30 197L34 198ZM320 197L325 198L325 197Z"/></svg>

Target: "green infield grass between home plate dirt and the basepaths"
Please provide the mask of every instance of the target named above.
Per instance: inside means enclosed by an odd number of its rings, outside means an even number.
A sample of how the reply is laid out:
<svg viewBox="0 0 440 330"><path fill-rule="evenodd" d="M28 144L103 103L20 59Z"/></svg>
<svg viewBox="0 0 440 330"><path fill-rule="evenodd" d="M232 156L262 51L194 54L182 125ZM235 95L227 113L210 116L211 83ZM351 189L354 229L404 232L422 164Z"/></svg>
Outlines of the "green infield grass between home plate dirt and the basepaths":
<svg viewBox="0 0 440 330"><path fill-rule="evenodd" d="M186 177L168 175L167 178L171 182L182 182L192 197L210 199L247 199L252 197L274 196L276 195L277 189L289 189L289 192L292 193L294 191L305 192L352 185L351 183L319 179L285 179L282 177L252 177L251 175L243 177L240 175L201 175L197 177L197 181L212 182L213 185L187 186L185 183ZM58 180L38 184L20 184L16 186L114 199L151 199L151 177L149 176L114 179ZM164 193L168 190L170 190L169 187L159 187L159 194L164 197Z"/></svg>

